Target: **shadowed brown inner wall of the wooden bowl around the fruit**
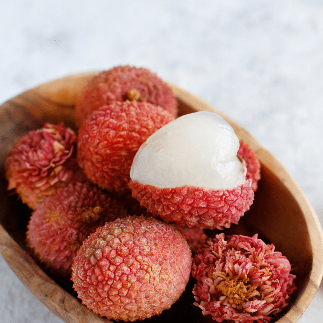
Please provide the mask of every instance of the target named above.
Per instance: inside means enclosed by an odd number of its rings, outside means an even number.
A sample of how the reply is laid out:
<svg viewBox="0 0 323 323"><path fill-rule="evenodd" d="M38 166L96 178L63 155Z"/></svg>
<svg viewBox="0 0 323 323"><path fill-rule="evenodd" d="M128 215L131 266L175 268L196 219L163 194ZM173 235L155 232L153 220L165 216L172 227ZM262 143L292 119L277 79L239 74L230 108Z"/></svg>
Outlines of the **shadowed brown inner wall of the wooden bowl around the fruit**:
<svg viewBox="0 0 323 323"><path fill-rule="evenodd" d="M0 223L24 250L26 250L26 225L31 210L17 200L16 194L9 194L6 190L7 182L3 170L5 157L21 136L27 134L29 130L41 128L46 121L51 123L64 121L65 125L75 129L74 103L80 89L92 76L93 73L89 73L71 77L69 81L62 79L63 81L47 83L22 93L0 107ZM197 110L194 101L188 104L179 97L178 100L180 115ZM251 143L251 139L248 142L248 137L243 139L246 143ZM297 290L293 293L290 304L273 319L276 321L288 312L307 286L312 269L313 253L307 221L295 196L263 162L261 167L262 178L258 183L259 188L255 193L253 205L240 219L239 224L232 224L224 232L225 234L249 236L257 233L258 237L266 243L273 243L276 251L286 255L290 261L293 273L297 276L295 280ZM219 230L207 230L207 234L211 237L219 232ZM77 296L69 280L47 274L63 289ZM160 316L145 321L209 321L208 317L202 316L198 307L192 305L194 302L191 292L193 285L194 279L191 278L186 291L170 310L163 311Z"/></svg>

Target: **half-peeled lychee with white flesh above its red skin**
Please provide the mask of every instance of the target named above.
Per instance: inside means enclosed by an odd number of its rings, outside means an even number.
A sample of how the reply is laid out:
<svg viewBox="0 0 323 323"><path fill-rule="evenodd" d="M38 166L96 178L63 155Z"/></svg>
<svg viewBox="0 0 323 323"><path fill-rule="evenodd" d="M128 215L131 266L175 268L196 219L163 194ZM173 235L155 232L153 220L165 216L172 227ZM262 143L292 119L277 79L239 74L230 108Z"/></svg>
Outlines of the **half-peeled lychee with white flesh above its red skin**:
<svg viewBox="0 0 323 323"><path fill-rule="evenodd" d="M138 150L130 171L132 196L153 216L181 227L229 228L254 200L238 149L234 130L217 114L179 117Z"/></svg>

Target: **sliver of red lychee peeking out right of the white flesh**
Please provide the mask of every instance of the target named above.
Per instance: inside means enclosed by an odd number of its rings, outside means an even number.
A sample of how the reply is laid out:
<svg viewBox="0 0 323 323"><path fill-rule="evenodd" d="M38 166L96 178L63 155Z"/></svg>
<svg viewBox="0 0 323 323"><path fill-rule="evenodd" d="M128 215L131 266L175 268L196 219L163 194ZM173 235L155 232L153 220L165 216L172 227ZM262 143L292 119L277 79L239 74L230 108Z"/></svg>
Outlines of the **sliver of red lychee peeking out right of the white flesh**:
<svg viewBox="0 0 323 323"><path fill-rule="evenodd" d="M251 187L255 192L258 188L258 181L260 180L260 161L258 160L255 152L242 140L240 140L240 147L237 156L242 158L247 167L246 179L251 179Z"/></svg>

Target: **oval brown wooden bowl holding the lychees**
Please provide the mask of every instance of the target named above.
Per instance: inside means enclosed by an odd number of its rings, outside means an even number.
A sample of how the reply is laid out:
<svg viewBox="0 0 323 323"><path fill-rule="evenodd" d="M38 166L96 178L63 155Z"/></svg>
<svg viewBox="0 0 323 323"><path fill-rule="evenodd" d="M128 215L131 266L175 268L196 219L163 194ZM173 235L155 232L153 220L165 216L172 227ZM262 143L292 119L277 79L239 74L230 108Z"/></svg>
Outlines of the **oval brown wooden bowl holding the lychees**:
<svg viewBox="0 0 323 323"><path fill-rule="evenodd" d="M26 253L26 224L30 209L16 196L9 196L4 179L4 160L14 143L29 130L41 128L46 121L75 128L74 104L82 87L96 73L79 74L58 79L26 91L0 107L1 122L1 211L0 252L18 278L44 305L66 322L109 322L81 304L70 282L50 278ZM297 290L290 304L278 314L278 322L296 322L313 299L323 274L322 229L307 198L275 157L266 151L247 131L203 100L171 85L180 105L180 115L214 111L227 120L239 139L255 151L261 162L262 179L250 211L232 224L226 234L253 235L258 233L276 251L286 255L294 266ZM211 233L212 234L212 233ZM192 305L191 279L186 291L170 310L145 321L205 321L201 310ZM275 319L274 319L275 320Z"/></svg>

